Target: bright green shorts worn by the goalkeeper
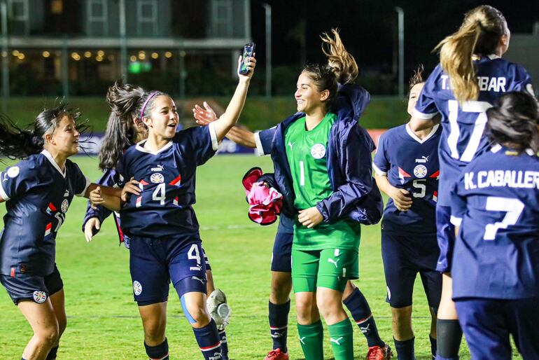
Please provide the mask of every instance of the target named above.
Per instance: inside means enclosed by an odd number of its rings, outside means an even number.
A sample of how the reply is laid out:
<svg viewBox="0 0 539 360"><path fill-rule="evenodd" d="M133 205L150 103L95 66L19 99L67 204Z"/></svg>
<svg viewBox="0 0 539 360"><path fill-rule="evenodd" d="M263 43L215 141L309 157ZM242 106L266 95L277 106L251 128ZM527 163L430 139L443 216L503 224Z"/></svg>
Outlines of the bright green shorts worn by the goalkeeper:
<svg viewBox="0 0 539 360"><path fill-rule="evenodd" d="M358 251L353 249L292 249L294 293L317 287L344 292L349 279L359 277Z"/></svg>

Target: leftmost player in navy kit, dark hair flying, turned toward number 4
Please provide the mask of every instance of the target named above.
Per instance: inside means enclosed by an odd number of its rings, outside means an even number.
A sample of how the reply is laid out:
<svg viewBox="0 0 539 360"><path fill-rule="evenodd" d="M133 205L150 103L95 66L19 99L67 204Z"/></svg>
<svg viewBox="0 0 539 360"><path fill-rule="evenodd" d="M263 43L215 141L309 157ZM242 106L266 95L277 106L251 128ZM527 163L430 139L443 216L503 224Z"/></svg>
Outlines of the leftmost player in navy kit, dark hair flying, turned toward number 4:
<svg viewBox="0 0 539 360"><path fill-rule="evenodd" d="M56 359L66 328L55 239L73 195L88 198L96 187L68 160L78 153L79 117L66 104L41 112L31 130L0 117L0 154L26 159L0 172L0 202L7 209L0 281L34 331L22 359Z"/></svg>

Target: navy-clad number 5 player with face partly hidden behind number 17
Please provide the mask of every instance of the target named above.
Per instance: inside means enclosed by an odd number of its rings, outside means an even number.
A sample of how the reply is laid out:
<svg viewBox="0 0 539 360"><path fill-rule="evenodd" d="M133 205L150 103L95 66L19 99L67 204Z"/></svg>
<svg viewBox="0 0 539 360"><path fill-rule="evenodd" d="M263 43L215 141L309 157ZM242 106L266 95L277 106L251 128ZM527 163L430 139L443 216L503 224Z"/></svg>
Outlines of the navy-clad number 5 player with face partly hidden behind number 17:
<svg viewBox="0 0 539 360"><path fill-rule="evenodd" d="M410 80L410 116L424 85L422 71L421 66ZM409 123L388 130L379 139L372 165L378 187L390 198L381 226L381 256L399 360L415 359L412 293L418 272L430 306L430 347L436 356L435 309L442 291L442 275L436 271L440 249L435 221L441 132L440 125L414 132Z"/></svg>

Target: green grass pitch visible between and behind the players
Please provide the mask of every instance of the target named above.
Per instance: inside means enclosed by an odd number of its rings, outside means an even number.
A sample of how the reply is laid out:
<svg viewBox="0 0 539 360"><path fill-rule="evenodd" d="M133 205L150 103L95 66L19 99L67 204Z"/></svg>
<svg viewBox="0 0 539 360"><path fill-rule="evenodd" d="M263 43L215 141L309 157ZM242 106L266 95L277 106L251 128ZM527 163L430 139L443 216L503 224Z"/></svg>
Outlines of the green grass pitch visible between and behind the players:
<svg viewBox="0 0 539 360"><path fill-rule="evenodd" d="M96 159L79 156L74 161L90 179L97 179ZM232 307L227 333L230 359L236 360L263 359L272 346L267 298L276 225L261 227L248 220L241 188L241 176L255 165L272 169L267 157L220 155L200 167L197 174L195 209L216 286L225 291ZM146 359L141 320L132 300L128 251L118 247L111 220L90 244L85 242L80 230L85 206L85 201L73 200L57 237L57 265L64 279L68 316L58 359ZM4 212L2 206L1 214ZM393 347L379 243L379 226L363 227L356 285L369 300L382 338ZM430 316L420 284L416 282L414 292L416 358L430 359ZM0 314L0 358L20 359L31 328L3 289ZM294 310L288 334L290 359L302 359ZM169 296L167 337L171 359L202 358L174 288ZM330 359L327 332L324 338L325 356ZM354 342L356 359L363 359L367 344L357 326ZM466 345L461 346L461 352L461 359L469 359Z"/></svg>

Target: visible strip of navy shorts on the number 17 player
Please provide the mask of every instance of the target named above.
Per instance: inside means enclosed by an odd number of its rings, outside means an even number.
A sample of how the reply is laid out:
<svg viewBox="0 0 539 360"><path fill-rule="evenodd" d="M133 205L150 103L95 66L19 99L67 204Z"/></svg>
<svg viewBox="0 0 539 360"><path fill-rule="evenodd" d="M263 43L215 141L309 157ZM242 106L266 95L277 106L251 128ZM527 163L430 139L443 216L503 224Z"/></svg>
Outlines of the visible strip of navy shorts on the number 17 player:
<svg viewBox="0 0 539 360"><path fill-rule="evenodd" d="M439 272L451 272L451 258L455 247L455 226L451 223L451 207L436 206L436 236L440 258L436 264Z"/></svg>

